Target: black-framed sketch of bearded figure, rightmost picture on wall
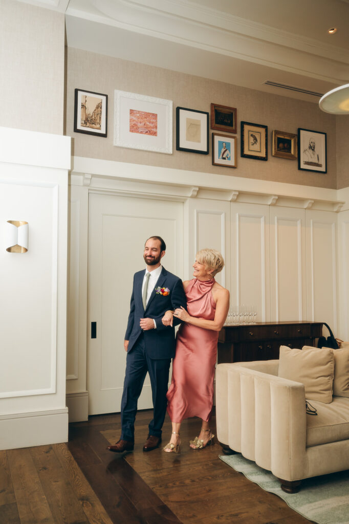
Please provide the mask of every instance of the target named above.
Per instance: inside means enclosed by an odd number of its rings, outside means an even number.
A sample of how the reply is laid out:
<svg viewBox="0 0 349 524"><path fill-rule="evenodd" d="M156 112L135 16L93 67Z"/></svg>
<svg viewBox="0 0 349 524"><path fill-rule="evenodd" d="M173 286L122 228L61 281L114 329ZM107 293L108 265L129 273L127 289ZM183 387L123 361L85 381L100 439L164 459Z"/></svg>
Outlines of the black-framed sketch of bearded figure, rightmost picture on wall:
<svg viewBox="0 0 349 524"><path fill-rule="evenodd" d="M298 169L327 173L326 133L298 128Z"/></svg>

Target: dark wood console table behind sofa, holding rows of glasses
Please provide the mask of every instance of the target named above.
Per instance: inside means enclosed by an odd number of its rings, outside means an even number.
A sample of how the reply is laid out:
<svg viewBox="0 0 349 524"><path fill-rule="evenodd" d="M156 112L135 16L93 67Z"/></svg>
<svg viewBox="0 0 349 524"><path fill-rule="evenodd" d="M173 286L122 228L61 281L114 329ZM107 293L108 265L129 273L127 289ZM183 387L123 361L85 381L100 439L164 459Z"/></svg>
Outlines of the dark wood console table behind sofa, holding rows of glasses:
<svg viewBox="0 0 349 524"><path fill-rule="evenodd" d="M227 325L218 338L217 362L250 362L279 358L280 346L315 345L322 322L257 322Z"/></svg>

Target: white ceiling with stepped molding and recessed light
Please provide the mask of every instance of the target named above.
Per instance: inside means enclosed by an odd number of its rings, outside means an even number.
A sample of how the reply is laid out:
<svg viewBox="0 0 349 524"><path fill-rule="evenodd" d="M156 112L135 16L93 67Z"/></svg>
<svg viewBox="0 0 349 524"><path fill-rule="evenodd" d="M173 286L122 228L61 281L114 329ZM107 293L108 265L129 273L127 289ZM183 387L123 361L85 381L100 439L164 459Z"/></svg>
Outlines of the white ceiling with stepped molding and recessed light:
<svg viewBox="0 0 349 524"><path fill-rule="evenodd" d="M349 82L349 0L24 1L66 13L69 47L315 103L265 81Z"/></svg>

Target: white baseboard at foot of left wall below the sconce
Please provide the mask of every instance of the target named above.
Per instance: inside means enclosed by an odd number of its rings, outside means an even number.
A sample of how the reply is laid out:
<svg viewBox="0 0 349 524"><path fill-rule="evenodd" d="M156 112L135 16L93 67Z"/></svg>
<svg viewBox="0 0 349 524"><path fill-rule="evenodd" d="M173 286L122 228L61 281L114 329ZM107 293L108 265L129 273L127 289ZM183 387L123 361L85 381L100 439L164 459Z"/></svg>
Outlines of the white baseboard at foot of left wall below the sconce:
<svg viewBox="0 0 349 524"><path fill-rule="evenodd" d="M0 450L68 442L68 408L0 417Z"/></svg>

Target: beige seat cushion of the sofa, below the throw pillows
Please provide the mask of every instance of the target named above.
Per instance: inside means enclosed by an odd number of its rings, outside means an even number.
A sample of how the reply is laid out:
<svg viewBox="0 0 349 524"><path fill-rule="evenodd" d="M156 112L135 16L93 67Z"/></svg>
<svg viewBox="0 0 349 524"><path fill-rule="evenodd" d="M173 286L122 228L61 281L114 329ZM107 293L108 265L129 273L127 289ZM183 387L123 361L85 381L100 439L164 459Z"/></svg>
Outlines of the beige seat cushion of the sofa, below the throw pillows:
<svg viewBox="0 0 349 524"><path fill-rule="evenodd" d="M307 415L307 447L349 439L349 400L333 397L331 404L313 401L318 416Z"/></svg>

